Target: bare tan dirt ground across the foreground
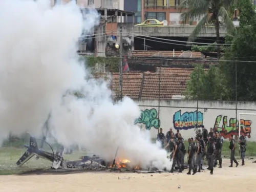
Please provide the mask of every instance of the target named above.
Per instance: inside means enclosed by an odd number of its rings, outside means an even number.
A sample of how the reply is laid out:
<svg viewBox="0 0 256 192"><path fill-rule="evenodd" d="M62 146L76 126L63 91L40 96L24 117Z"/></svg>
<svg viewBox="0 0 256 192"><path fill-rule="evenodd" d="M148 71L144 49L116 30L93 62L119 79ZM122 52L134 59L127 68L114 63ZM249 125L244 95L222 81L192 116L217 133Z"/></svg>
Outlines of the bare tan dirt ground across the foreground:
<svg viewBox="0 0 256 192"><path fill-rule="evenodd" d="M241 161L240 161L241 163ZM245 166L215 168L214 175L204 170L196 175L181 174L137 174L137 173L80 173L69 175L0 176L0 192L236 192L255 191L256 163L247 160ZM118 179L130 177L130 179ZM180 188L178 189L180 185Z"/></svg>

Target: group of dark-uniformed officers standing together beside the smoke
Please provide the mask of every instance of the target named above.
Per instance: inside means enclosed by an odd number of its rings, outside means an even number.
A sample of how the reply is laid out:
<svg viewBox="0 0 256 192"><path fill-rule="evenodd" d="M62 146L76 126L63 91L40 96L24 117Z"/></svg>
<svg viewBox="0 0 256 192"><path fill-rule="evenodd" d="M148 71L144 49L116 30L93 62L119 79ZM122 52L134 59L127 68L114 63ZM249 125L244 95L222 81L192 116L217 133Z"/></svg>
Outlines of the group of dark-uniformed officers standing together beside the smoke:
<svg viewBox="0 0 256 192"><path fill-rule="evenodd" d="M167 151L172 152L170 159L173 160L172 168L170 173L174 173L175 165L178 166L179 173L182 173L184 170L184 157L186 154L186 147L184 144L184 139L182 138L180 131L177 130L177 133L174 134L173 129L171 128L165 135L162 128L159 130L157 135L157 140L161 143L161 147L165 148ZM166 141L166 145L164 143ZM230 166L233 166L233 162L236 163L236 167L239 165L234 154L236 151L236 141L233 139L233 135L229 136L230 141ZM205 129L202 125L201 130L198 130L198 133L194 138L188 139L188 148L187 148L187 164L188 164L188 173L187 175L195 175L197 172L203 170L203 160L206 158L208 162L207 169L210 170L210 174L214 174L214 167L219 165L219 168L222 168L222 144L223 139L220 135L220 132L215 129L210 131ZM242 165L244 165L245 151L246 151L246 139L244 133L241 132L241 137L239 138L240 152L242 158ZM218 164L219 161L219 164Z"/></svg>

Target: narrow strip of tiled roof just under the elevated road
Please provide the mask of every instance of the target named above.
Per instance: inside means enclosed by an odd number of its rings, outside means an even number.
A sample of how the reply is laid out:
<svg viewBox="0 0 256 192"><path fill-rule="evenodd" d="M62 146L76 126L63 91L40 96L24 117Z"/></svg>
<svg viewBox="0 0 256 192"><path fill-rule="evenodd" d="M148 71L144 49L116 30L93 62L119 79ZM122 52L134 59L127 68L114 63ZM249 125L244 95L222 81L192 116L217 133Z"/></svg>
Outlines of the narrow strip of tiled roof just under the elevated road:
<svg viewBox="0 0 256 192"><path fill-rule="evenodd" d="M193 58L200 58L202 57L201 52L185 52L185 51L133 51L132 56L135 57L179 57L181 54L185 57L190 57L192 54Z"/></svg>

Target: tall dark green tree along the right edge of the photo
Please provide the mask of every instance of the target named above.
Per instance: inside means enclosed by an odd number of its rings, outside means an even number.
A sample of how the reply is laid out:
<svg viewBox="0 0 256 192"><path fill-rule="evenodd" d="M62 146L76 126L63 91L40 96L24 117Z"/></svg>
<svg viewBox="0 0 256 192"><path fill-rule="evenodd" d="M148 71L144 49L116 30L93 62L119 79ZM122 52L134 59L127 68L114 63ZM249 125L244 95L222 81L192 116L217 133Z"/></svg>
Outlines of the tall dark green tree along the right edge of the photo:
<svg viewBox="0 0 256 192"><path fill-rule="evenodd" d="M225 89L230 100L256 100L256 13L250 0L238 4L240 26L237 34L231 35L231 47L226 50L220 70L225 77ZM236 73L237 71L237 73ZM237 78L236 78L237 74ZM236 83L237 82L237 83ZM237 84L237 90L236 90Z"/></svg>

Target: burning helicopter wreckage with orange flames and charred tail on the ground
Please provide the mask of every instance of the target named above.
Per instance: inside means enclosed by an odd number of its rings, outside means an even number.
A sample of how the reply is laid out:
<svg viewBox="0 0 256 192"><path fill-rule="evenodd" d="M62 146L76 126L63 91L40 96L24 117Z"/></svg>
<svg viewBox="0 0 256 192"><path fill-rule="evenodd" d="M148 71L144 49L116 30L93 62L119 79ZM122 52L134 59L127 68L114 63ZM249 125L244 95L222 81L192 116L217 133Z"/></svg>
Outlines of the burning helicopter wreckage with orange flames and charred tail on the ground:
<svg viewBox="0 0 256 192"><path fill-rule="evenodd" d="M38 147L37 141L41 141L40 147ZM51 148L51 152L46 152L42 150L43 145L48 145ZM33 156L36 159L44 158L52 162L52 169L87 169L87 170L119 170L119 171L131 171L137 173L161 173L162 170L158 170L155 167L142 168L140 166L133 167L130 165L129 160L119 160L116 159L118 148L116 151L115 158L113 162L106 162L104 159L97 155L92 156L82 156L79 160L66 161L63 159L64 147L59 147L56 153L54 153L53 148L45 140L36 139L35 137L30 137L30 144L24 145L27 151L19 158L16 162L17 166L22 166Z"/></svg>

